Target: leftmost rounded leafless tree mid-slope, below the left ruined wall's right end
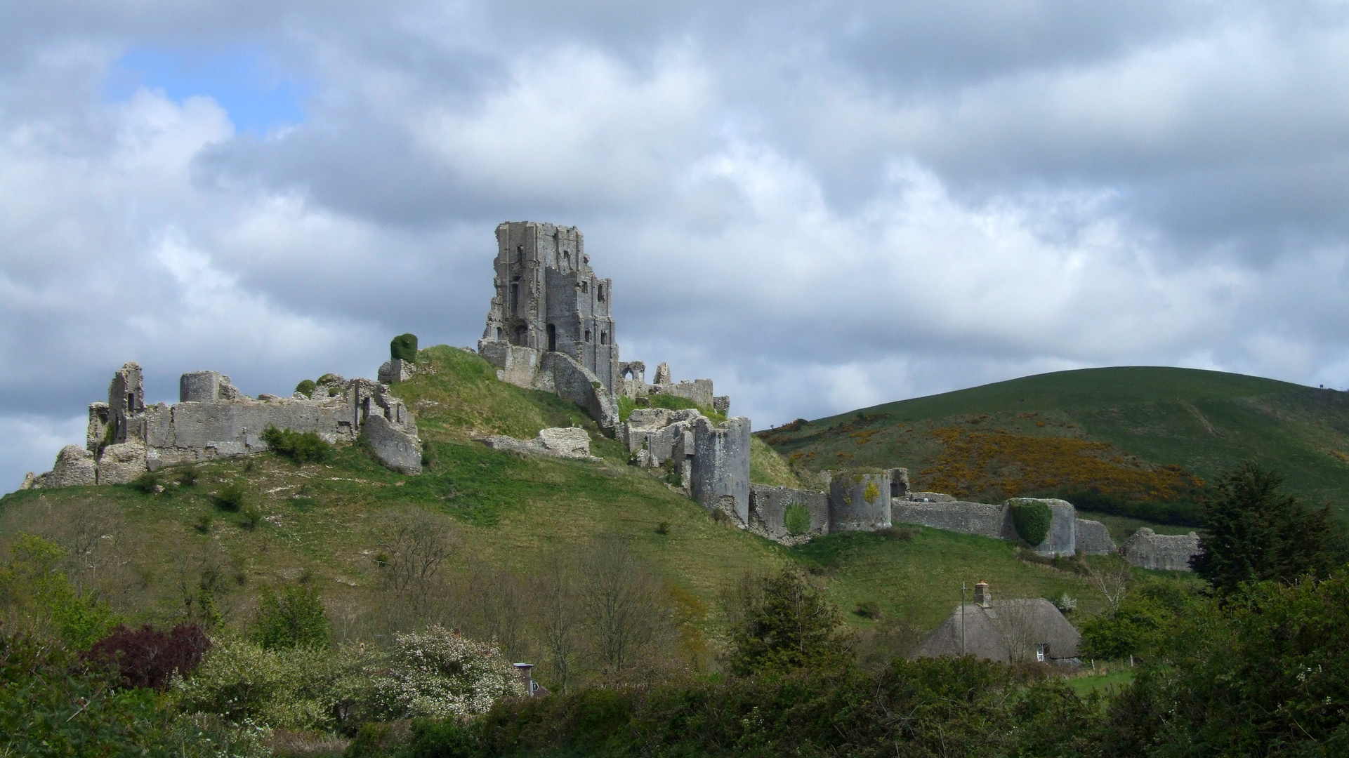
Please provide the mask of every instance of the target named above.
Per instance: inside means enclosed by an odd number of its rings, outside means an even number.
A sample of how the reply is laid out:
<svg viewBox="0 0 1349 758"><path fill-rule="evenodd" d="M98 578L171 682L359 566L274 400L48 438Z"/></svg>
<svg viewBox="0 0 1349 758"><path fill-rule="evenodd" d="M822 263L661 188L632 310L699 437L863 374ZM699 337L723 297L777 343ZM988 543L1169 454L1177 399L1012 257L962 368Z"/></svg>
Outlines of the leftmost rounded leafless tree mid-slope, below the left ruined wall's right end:
<svg viewBox="0 0 1349 758"><path fill-rule="evenodd" d="M448 525L425 511L394 518L379 541L384 584L405 596L422 618L445 560L452 553Z"/></svg>

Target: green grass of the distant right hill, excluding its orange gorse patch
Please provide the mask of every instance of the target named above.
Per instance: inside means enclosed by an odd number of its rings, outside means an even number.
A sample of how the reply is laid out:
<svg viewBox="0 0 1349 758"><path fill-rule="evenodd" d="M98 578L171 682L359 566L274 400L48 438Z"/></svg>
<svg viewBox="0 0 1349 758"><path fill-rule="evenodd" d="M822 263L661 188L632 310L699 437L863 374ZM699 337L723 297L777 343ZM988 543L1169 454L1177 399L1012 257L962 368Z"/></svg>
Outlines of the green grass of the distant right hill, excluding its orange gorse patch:
<svg viewBox="0 0 1349 758"><path fill-rule="evenodd" d="M943 460L946 444L975 430L1101 442L1090 455L1121 471L1170 464L1206 480L1256 459L1287 475L1288 488L1313 503L1349 510L1349 392L1217 371L1041 374L759 434L812 468L905 465L916 488L924 488L939 476L924 471ZM1045 448L1052 449L1062 450Z"/></svg>

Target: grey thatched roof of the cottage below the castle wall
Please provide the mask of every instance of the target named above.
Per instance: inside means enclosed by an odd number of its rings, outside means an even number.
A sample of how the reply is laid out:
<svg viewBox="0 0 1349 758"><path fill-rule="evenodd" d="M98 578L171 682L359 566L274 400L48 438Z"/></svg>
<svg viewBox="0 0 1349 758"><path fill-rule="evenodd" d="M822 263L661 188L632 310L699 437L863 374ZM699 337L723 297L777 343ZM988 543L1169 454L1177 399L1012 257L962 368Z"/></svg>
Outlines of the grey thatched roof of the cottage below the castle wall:
<svg viewBox="0 0 1349 758"><path fill-rule="evenodd" d="M965 654L1001 661L1035 661L1036 649L1047 660L1078 657L1082 635L1054 607L1040 597L993 600L987 606L965 606ZM913 651L915 658L960 655L960 606Z"/></svg>

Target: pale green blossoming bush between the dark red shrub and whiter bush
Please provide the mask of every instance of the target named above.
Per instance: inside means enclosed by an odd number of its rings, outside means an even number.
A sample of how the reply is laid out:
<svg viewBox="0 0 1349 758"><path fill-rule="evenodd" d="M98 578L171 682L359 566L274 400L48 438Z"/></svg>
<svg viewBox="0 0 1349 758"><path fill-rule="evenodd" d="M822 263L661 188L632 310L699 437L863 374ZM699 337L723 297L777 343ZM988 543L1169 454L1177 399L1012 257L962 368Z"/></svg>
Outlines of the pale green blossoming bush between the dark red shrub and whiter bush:
<svg viewBox="0 0 1349 758"><path fill-rule="evenodd" d="M325 730L368 708L380 657L362 646L266 650L241 639L217 643L192 677L174 682L179 708L272 728Z"/></svg>

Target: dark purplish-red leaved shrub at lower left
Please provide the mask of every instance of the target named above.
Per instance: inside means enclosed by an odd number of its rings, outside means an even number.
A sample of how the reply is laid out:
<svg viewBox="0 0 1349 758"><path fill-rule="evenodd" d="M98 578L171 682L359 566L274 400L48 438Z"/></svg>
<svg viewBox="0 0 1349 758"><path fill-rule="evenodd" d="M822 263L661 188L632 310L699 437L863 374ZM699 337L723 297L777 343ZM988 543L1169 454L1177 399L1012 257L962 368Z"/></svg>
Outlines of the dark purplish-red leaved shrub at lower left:
<svg viewBox="0 0 1349 758"><path fill-rule="evenodd" d="M144 624L127 629L119 624L108 637L94 642L85 658L107 666L124 687L167 689L174 672L186 676L201 665L210 649L210 638L194 623L181 623L165 634Z"/></svg>

